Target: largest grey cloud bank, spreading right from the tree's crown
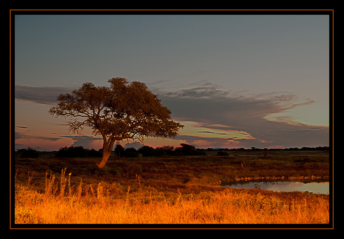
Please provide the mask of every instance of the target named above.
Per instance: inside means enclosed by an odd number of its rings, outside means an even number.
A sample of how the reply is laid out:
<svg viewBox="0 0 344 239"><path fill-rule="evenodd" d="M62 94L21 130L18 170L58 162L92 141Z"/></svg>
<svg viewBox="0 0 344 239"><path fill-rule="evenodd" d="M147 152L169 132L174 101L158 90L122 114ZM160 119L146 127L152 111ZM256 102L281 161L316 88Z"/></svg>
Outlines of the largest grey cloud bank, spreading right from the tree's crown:
<svg viewBox="0 0 344 239"><path fill-rule="evenodd" d="M292 92L273 91L255 94L248 91L223 90L219 85L203 83L199 86L179 91L164 92L160 89L162 104L172 111L177 121L196 122L195 127L211 130L198 131L207 134L214 130L232 130L246 132L253 138L238 140L234 137L206 140L221 145L239 142L247 147L284 147L328 146L329 127L310 126L296 121L292 116L283 116L276 120L266 117L276 113L288 113L289 110L314 103L312 99L301 100ZM243 134L246 134L243 133ZM185 136L178 136L185 139ZM190 136L192 137L192 136ZM188 138L189 142L192 141ZM201 138L194 137L194 140ZM244 147L244 146L243 146Z"/></svg>

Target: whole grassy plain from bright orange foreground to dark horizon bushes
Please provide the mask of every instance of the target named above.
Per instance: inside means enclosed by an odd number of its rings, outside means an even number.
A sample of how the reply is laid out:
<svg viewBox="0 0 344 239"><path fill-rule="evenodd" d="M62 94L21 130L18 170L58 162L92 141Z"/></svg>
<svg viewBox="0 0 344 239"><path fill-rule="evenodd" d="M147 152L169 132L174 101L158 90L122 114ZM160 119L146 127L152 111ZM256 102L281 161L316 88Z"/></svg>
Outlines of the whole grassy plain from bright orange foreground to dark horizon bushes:
<svg viewBox="0 0 344 239"><path fill-rule="evenodd" d="M261 152L208 153L118 160L112 156L96 170L97 158L56 158L51 152L35 159L15 155L12 227L331 228L330 195L208 185L240 177L329 177L329 151L272 151L266 158Z"/></svg>

